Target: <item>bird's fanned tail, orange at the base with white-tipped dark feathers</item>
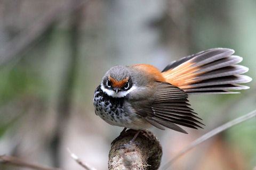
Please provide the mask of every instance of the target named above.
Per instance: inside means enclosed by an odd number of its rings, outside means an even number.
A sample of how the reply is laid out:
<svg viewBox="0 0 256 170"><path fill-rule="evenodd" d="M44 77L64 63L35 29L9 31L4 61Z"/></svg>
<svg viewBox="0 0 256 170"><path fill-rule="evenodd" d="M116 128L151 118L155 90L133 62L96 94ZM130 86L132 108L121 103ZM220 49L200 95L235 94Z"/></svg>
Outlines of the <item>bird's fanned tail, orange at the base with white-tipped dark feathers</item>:
<svg viewBox="0 0 256 170"><path fill-rule="evenodd" d="M183 57L167 65L162 71L165 81L189 94L230 94L230 90L249 89L239 83L252 79L246 75L249 69L240 63L243 58L233 49L213 48Z"/></svg>

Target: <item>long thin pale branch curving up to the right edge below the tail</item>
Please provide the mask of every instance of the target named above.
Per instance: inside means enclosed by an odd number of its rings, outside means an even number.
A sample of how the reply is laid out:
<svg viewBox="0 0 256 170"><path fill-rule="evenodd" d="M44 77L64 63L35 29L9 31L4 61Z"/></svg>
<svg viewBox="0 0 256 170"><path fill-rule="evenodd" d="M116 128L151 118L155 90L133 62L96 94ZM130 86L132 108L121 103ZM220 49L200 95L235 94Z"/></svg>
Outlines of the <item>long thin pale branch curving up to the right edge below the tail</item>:
<svg viewBox="0 0 256 170"><path fill-rule="evenodd" d="M168 169L171 164L173 162L175 162L175 160L177 160L180 156L186 154L186 152L188 152L189 150L193 149L194 147L196 147L197 145L199 145L200 143L206 141L207 139L213 137L214 135L220 133L220 132L223 132L229 128L231 128L232 126L234 125L237 125L241 122L244 122L246 120L249 120L250 118L256 116L256 110L246 114L246 115L243 115L243 116L240 116L238 118L236 118L235 120L232 120L232 121L229 121L221 126L219 126L218 128L215 128L213 130L211 130L210 132L202 135L201 137L197 138L195 141L193 141L192 143L190 143L189 146L183 148L176 156L174 156L168 163L166 163L162 169Z"/></svg>

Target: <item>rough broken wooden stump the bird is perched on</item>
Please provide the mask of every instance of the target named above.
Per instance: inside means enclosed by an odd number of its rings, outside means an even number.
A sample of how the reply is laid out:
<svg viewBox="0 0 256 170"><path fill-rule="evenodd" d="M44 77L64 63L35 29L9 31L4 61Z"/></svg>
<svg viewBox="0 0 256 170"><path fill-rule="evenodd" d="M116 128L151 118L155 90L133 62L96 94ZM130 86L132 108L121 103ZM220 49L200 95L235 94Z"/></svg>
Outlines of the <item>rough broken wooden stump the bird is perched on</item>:
<svg viewBox="0 0 256 170"><path fill-rule="evenodd" d="M141 131L133 143L129 143L137 131L127 130L112 143L108 169L157 169L161 163L162 147L155 135Z"/></svg>

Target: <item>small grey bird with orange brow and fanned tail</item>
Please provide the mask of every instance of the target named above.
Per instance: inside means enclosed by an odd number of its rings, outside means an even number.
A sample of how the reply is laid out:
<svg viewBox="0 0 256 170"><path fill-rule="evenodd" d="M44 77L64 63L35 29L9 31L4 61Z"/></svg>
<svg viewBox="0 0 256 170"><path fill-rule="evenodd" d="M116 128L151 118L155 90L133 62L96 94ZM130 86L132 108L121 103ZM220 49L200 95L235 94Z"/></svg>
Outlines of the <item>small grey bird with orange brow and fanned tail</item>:
<svg viewBox="0 0 256 170"><path fill-rule="evenodd" d="M237 94L252 79L229 48L212 48L173 61L162 71L149 64L116 65L94 91L95 114L110 125L137 130L153 126L187 133L204 124L189 104L190 94Z"/></svg>

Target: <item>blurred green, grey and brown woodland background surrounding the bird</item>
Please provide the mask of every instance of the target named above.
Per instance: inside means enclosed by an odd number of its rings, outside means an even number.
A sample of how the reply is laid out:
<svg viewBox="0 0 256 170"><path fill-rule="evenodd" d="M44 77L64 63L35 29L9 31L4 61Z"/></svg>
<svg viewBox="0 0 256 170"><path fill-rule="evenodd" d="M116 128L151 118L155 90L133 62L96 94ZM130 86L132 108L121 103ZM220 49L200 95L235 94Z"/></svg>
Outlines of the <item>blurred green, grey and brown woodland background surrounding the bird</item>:
<svg viewBox="0 0 256 170"><path fill-rule="evenodd" d="M256 1L0 1L0 155L31 163L107 169L122 131L94 114L94 89L114 65L163 69L215 47L235 49L253 78L241 94L190 96L205 129L151 129L162 165L202 134L256 108ZM253 169L256 119L199 145L174 169ZM25 169L0 164L0 169Z"/></svg>

